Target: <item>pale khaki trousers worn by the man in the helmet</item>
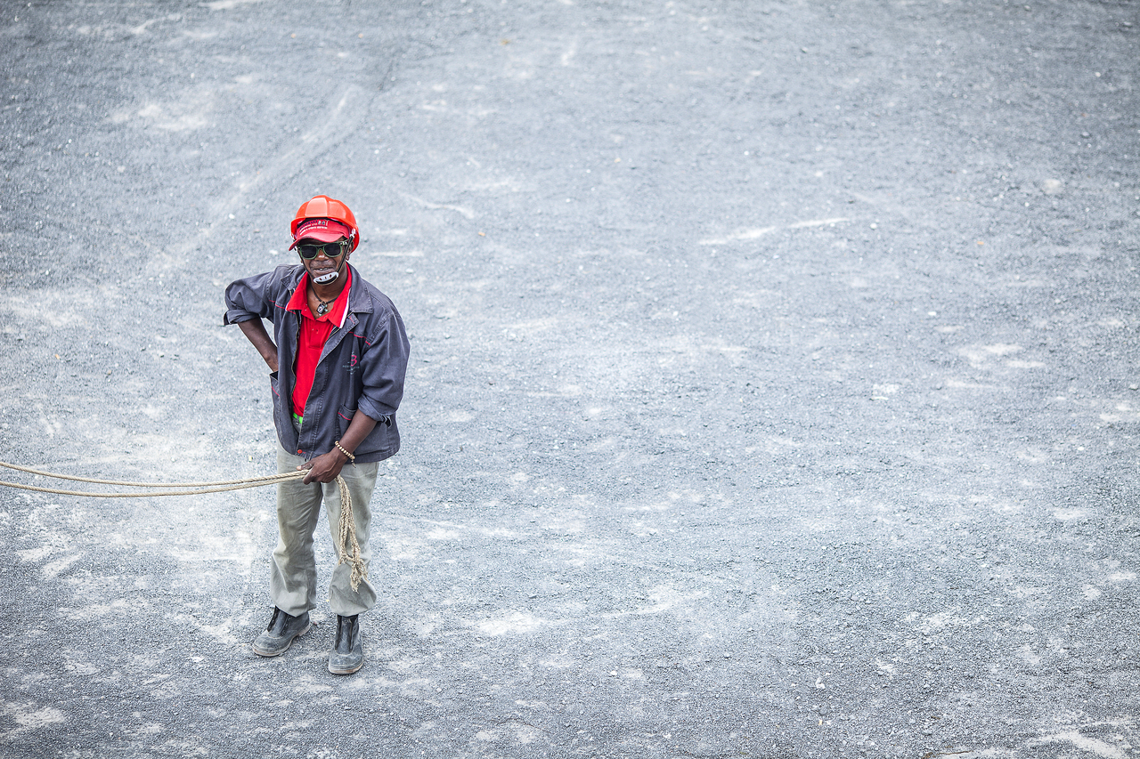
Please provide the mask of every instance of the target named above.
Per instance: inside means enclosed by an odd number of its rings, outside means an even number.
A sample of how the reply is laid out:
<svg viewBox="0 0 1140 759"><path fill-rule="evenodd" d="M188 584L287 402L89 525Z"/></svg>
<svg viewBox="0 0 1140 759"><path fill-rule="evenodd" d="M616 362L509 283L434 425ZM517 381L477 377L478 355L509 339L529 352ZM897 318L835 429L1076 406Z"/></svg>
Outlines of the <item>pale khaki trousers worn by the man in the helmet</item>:
<svg viewBox="0 0 1140 759"><path fill-rule="evenodd" d="M277 446L277 471L295 472L304 459ZM352 496L352 517L356 522L360 556L367 568L372 558L368 545L368 528L372 511L368 507L380 464L347 464L341 470ZM328 513L329 533L336 545L341 520L341 491L336 481L328 484L300 480L277 485L277 528L280 539L274 550L274 562L269 578L269 595L274 605L286 614L296 617L317 607L317 562L312 553L312 538L324 501ZM335 548L334 548L335 553ZM328 585L328 606L334 614L351 617L368 611L376 604L376 591L364 579L353 590L349 582L351 568L337 564Z"/></svg>

